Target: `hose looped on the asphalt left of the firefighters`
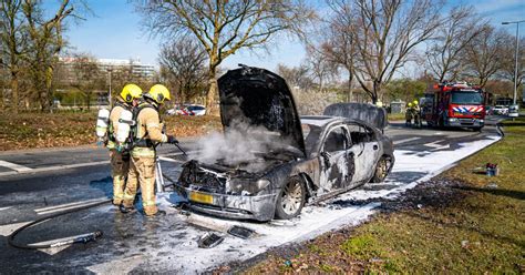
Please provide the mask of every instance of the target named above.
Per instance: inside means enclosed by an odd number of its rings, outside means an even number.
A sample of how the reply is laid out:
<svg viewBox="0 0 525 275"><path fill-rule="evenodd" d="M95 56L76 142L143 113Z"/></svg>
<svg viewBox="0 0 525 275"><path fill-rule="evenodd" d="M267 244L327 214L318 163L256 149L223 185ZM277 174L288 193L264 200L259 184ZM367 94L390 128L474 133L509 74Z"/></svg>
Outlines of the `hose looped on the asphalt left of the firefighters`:
<svg viewBox="0 0 525 275"><path fill-rule="evenodd" d="M40 249L40 248L58 247L58 246L74 244L74 243L87 243L87 242L91 242L91 241L95 241L96 238L99 238L103 235L102 231L97 230L97 231L92 232L92 233L73 236L71 238L61 240L61 241L50 243L50 244L18 244L18 243L14 242L14 237L20 232L22 232L23 230L29 228L33 225L39 224L39 223L43 223L48 220L51 220L51 218L54 218L54 217L58 217L58 216L62 216L62 215L65 215L65 214L74 213L74 212L78 212L78 211L87 210L87 208L95 207L95 206L106 204L106 203L111 203L111 202L112 202L112 200L104 200L104 201L101 201L101 202L86 204L86 205L83 205L83 206L80 206L80 207L76 207L76 208L66 210L66 211L63 211L63 212L60 212L60 213L56 213L56 214L52 214L52 215L49 215L49 216L38 218L37 221L33 221L29 224L25 224L22 227L19 227L18 230L16 230L13 233L11 233L11 235L9 235L9 237L8 237L8 243L9 243L9 245L11 245L13 247L17 247L17 248L21 248L21 249Z"/></svg>

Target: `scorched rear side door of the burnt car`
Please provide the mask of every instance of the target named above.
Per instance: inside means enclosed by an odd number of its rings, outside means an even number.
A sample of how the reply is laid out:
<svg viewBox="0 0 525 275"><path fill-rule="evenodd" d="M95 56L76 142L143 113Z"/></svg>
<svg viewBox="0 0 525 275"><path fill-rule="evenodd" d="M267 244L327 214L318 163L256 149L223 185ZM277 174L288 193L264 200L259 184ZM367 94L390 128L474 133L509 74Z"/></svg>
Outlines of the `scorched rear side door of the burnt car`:
<svg viewBox="0 0 525 275"><path fill-rule="evenodd" d="M359 123L349 123L348 131L351 140L349 151L353 153L356 164L356 173L350 185L357 186L373 175L381 149L370 128Z"/></svg>

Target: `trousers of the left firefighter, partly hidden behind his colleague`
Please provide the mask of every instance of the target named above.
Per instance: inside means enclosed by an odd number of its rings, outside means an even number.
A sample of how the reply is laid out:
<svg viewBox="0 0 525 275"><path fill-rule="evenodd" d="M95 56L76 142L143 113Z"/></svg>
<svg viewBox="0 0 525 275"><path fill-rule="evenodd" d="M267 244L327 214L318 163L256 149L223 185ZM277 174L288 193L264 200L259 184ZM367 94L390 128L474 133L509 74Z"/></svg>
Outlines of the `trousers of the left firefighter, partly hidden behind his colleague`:
<svg viewBox="0 0 525 275"><path fill-rule="evenodd" d="M111 176L113 177L113 204L120 205L124 198L124 187L130 170L130 153L110 151Z"/></svg>

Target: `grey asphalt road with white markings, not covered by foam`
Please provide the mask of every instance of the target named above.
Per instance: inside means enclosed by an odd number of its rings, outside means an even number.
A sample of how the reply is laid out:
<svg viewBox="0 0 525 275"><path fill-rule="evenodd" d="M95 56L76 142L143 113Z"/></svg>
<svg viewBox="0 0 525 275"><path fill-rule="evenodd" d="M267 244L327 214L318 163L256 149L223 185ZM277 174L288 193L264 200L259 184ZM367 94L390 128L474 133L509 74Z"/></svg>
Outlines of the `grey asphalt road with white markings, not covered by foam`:
<svg viewBox="0 0 525 275"><path fill-rule="evenodd" d="M498 118L487 120L494 124ZM470 130L413 130L403 123L392 123L387 130L397 150L412 152L454 151L457 144L487 139L495 135L494 125L482 132ZM187 151L196 150L196 142L182 141ZM176 179L183 157L169 145L159 150L163 171ZM65 246L45 251L22 251L10 247L7 236L19 226L48 214L69 207L111 197L111 177L107 151L101 147L59 150L31 150L0 153L0 273L51 272L97 272L112 271L110 258L126 254L126 262L120 262L114 272L148 271L147 266L171 263L171 249L187 245L177 240L196 232L205 233L199 226L186 228L179 217L168 212L165 218L151 221L142 215L122 215L112 206L54 218L29 228L18 237L21 243L38 243L104 228L103 241L85 245ZM78 204L79 203L79 204ZM153 257L144 259L148 253ZM130 256L131 255L131 256ZM152 259L153 258L153 259ZM155 258L159 262L155 263ZM141 262L145 261L145 262ZM152 262L153 261L153 262ZM213 262L213 261L212 261ZM122 265L124 263L124 265ZM110 265L110 266L109 266ZM136 266L141 266L136 269ZM173 258L168 269L184 269L192 261L179 263ZM124 269L122 269L124 268Z"/></svg>

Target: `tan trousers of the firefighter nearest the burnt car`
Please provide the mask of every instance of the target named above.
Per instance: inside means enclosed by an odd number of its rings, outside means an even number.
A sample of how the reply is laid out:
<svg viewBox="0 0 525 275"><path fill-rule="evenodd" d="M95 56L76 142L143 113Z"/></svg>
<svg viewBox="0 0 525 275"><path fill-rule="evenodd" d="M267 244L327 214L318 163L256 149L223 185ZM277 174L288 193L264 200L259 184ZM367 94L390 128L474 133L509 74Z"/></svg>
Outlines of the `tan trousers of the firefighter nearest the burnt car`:
<svg viewBox="0 0 525 275"><path fill-rule="evenodd" d="M155 157L132 155L124 191L124 207L133 206L138 186L141 186L142 191L144 213L146 215L155 215L158 211L155 197Z"/></svg>

